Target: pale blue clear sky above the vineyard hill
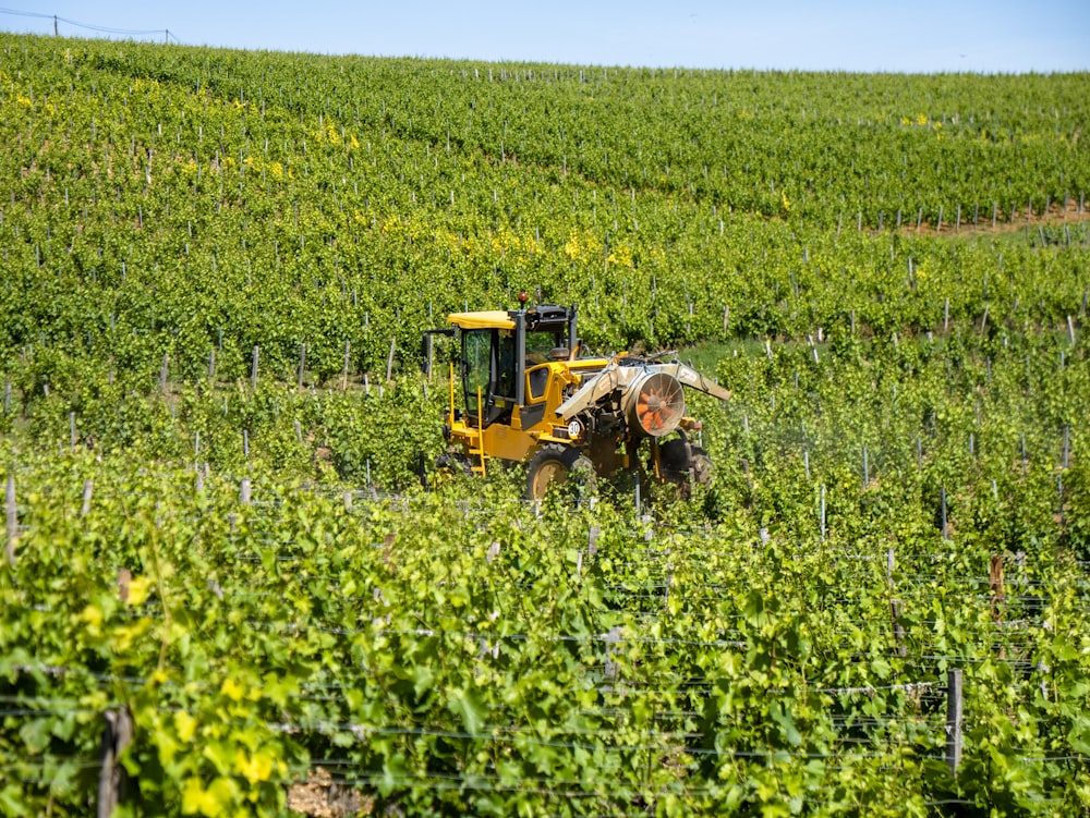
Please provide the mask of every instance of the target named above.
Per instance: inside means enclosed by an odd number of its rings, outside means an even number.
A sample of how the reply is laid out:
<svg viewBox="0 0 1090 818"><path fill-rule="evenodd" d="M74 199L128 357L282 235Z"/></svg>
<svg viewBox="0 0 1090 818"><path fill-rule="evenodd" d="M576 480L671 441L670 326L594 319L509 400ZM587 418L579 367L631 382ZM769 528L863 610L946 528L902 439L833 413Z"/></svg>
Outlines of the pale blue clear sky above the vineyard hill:
<svg viewBox="0 0 1090 818"><path fill-rule="evenodd" d="M1090 0L15 0L0 7L0 29L52 34L52 15L64 36L155 29L133 38L161 40L169 29L186 45L251 50L707 69L1090 70Z"/></svg>

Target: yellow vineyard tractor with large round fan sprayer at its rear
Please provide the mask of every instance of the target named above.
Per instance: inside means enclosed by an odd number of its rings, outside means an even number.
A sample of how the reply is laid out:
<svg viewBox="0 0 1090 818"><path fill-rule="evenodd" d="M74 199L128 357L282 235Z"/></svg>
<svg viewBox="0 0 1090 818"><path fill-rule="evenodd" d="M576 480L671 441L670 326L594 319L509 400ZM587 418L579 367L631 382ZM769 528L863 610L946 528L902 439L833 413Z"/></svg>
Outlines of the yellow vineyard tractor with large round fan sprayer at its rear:
<svg viewBox="0 0 1090 818"><path fill-rule="evenodd" d="M521 296L520 296L521 297ZM425 333L455 337L464 406L450 406L444 434L452 451L440 466L484 473L489 459L526 464L526 497L553 484L640 471L688 491L711 478L711 461L690 432L683 387L720 400L730 393L664 355L588 357L576 307L453 313L452 327ZM650 441L646 460L641 444Z"/></svg>

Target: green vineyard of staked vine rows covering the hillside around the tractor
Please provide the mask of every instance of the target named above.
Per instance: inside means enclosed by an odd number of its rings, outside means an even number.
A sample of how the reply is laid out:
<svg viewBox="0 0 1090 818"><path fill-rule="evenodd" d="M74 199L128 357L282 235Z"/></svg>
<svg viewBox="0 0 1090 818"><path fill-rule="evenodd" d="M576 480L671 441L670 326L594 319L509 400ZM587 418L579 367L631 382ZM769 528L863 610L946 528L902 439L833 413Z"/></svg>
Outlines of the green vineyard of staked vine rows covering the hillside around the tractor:
<svg viewBox="0 0 1090 818"><path fill-rule="evenodd" d="M0 815L1086 815L1088 100L0 34ZM520 290L710 486L421 484Z"/></svg>

